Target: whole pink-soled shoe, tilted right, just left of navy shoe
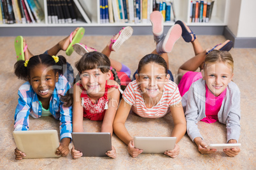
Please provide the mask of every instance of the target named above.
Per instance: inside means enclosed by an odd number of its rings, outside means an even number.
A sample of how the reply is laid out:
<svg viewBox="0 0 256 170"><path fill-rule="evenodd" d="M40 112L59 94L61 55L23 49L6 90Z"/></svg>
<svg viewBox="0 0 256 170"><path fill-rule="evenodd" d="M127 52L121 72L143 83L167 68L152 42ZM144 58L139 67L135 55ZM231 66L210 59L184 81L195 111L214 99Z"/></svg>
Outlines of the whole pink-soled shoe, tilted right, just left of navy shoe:
<svg viewBox="0 0 256 170"><path fill-rule="evenodd" d="M182 29L180 25L175 24L171 27L166 36L157 44L157 53L161 55L162 53L171 53L175 42L180 38L182 34Z"/></svg>

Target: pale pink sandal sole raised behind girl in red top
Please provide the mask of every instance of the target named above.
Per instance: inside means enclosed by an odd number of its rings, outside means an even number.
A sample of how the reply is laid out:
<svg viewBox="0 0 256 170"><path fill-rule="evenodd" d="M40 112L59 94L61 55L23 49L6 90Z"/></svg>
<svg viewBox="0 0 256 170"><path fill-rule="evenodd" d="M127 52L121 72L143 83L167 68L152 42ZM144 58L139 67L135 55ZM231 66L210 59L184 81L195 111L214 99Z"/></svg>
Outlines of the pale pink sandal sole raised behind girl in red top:
<svg viewBox="0 0 256 170"><path fill-rule="evenodd" d="M117 38L117 41L115 41L112 45L113 51L118 51L118 49L121 47L121 45L132 36L133 29L132 27L125 27L124 30L120 33L120 35Z"/></svg>

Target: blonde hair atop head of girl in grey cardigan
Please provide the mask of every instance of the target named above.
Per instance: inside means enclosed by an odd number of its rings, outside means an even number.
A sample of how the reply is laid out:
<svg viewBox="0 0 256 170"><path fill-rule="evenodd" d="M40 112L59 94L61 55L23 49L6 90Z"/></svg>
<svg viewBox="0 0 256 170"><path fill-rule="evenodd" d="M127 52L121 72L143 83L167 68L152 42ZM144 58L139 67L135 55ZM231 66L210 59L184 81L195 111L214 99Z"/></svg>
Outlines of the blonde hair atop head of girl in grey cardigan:
<svg viewBox="0 0 256 170"><path fill-rule="evenodd" d="M217 62L223 62L227 65L229 65L232 69L232 72L234 71L234 60L231 56L231 53L228 51L220 51L218 49L214 49L206 55L204 60L204 67L208 63L217 63Z"/></svg>

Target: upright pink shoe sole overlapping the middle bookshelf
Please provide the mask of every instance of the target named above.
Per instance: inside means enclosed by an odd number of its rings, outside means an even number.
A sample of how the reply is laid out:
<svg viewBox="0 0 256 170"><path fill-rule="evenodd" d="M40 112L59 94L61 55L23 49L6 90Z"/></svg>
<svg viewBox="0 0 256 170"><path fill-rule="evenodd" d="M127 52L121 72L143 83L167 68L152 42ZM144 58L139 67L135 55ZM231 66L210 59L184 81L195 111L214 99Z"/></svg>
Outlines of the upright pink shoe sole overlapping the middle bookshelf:
<svg viewBox="0 0 256 170"><path fill-rule="evenodd" d="M150 22L152 23L152 32L154 36L162 35L164 31L164 18L159 11L153 11L150 15Z"/></svg>

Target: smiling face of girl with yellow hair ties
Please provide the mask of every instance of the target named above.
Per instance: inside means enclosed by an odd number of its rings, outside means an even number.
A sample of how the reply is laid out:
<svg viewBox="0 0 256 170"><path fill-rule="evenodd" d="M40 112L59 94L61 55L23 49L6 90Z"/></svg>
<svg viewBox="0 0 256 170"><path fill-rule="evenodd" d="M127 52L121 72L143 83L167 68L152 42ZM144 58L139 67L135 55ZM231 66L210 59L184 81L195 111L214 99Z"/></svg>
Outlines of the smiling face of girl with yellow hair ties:
<svg viewBox="0 0 256 170"><path fill-rule="evenodd" d="M40 101L50 100L59 80L59 73L55 74L53 69L46 65L37 65L30 71L29 82Z"/></svg>

